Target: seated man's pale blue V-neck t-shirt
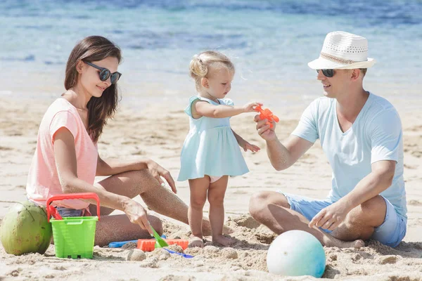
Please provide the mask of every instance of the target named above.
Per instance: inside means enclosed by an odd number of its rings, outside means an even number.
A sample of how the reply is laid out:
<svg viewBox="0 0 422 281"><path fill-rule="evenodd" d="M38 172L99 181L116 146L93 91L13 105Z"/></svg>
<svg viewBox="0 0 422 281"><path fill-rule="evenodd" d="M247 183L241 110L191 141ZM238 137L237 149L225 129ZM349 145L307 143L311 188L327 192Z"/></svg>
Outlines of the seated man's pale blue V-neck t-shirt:
<svg viewBox="0 0 422 281"><path fill-rule="evenodd" d="M381 160L396 162L392 185L381 195L398 214L407 218L403 178L403 139L400 117L388 100L369 93L356 120L343 133L338 124L337 101L317 98L303 112L293 135L314 143L318 138L333 169L328 197L338 201L371 173L371 164Z"/></svg>

